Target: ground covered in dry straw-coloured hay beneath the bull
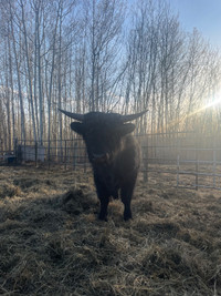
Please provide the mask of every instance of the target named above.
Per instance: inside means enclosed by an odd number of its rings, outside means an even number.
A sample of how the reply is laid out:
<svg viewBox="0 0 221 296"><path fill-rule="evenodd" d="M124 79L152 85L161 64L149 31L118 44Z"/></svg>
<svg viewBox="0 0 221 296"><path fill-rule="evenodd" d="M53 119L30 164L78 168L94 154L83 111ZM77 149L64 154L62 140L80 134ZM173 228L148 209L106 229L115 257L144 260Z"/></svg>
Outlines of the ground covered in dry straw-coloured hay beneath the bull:
<svg viewBox="0 0 221 296"><path fill-rule="evenodd" d="M0 167L1 295L221 295L221 193L140 178L97 221L91 172Z"/></svg>

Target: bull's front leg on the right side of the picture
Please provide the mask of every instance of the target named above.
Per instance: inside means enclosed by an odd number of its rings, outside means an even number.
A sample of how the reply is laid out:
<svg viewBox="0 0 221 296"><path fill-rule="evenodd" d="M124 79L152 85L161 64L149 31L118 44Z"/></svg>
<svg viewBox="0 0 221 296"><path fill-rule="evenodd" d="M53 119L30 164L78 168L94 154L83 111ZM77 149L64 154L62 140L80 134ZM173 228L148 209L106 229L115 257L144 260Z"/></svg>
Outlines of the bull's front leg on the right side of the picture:
<svg viewBox="0 0 221 296"><path fill-rule="evenodd" d="M130 181L130 183L125 184L122 186L120 195L122 195L122 202L124 203L124 220L127 221L131 218L131 196L135 187L136 178Z"/></svg>

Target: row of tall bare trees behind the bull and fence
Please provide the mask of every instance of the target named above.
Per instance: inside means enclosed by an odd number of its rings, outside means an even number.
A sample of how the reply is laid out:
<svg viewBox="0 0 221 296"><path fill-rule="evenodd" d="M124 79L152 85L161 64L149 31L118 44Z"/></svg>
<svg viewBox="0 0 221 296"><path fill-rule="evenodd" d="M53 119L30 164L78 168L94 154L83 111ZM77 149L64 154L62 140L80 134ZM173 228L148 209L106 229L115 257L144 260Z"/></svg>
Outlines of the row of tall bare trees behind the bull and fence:
<svg viewBox="0 0 221 296"><path fill-rule="evenodd" d="M164 1L0 0L0 141L70 137L73 112L149 112L137 132L215 130L221 58ZM212 122L212 124L211 124Z"/></svg>

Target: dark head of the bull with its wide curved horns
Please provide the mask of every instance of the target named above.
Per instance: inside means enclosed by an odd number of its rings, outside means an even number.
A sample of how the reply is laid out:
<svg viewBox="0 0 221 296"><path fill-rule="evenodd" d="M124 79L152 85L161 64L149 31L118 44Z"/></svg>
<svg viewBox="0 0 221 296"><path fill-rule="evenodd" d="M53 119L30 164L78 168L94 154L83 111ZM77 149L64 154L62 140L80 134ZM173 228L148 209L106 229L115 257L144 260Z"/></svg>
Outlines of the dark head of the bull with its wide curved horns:
<svg viewBox="0 0 221 296"><path fill-rule="evenodd" d="M71 123L71 129L83 136L88 159L93 164L110 162L115 152L120 149L122 137L135 130L135 125L127 122L136 120L147 112L120 115L103 112L77 114L61 109L60 111L76 120Z"/></svg>

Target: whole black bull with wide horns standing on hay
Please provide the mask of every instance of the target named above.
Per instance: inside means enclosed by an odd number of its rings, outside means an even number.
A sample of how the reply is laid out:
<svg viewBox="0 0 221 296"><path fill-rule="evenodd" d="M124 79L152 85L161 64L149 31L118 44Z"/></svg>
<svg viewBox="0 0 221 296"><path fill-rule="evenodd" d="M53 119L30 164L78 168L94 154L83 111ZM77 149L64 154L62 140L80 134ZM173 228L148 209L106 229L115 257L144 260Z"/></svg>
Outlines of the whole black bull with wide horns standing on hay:
<svg viewBox="0 0 221 296"><path fill-rule="evenodd" d="M118 197L124 203L124 220L131 218L130 201L140 163L139 146L131 133L133 123L146 111L120 115L117 113L90 112L76 114L60 110L76 120L71 127L85 141L94 182L101 201L99 220L107 220L109 197Z"/></svg>

